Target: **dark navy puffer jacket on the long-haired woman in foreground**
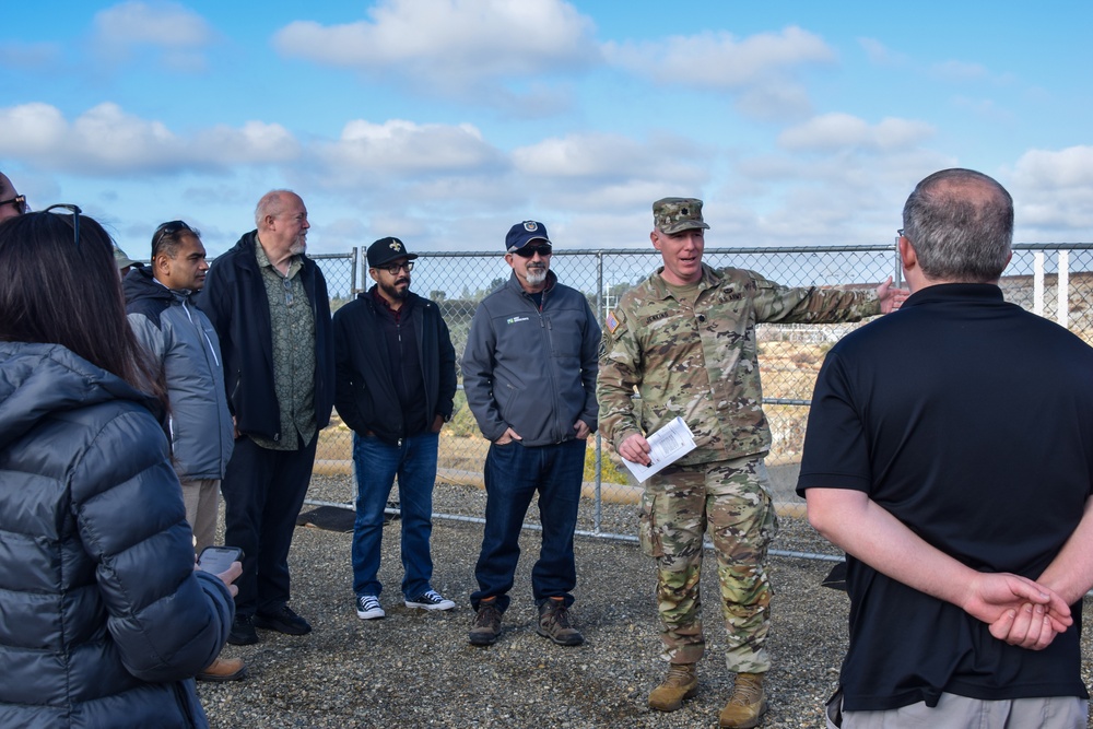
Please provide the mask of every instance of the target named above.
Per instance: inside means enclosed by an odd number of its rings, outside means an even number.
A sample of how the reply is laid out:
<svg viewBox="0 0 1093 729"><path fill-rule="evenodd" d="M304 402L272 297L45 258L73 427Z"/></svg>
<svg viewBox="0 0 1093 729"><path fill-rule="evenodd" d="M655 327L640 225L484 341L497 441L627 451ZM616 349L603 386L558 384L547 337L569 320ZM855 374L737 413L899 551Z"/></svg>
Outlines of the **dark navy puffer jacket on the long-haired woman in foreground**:
<svg viewBox="0 0 1093 729"><path fill-rule="evenodd" d="M0 342L0 727L204 727L192 677L227 588L192 536L153 400Z"/></svg>

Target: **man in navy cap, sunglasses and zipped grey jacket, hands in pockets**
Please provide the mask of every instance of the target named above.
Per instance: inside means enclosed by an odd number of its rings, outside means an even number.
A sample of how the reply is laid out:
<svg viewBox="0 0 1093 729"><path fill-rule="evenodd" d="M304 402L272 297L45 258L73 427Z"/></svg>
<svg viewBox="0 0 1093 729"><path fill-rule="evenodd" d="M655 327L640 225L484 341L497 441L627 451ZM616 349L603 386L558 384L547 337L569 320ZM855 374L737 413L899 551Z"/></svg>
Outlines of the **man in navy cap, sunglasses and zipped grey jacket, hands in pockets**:
<svg viewBox="0 0 1093 729"><path fill-rule="evenodd" d="M597 426L600 327L585 295L550 270L553 247L542 223L514 225L505 251L513 273L479 304L463 353L467 404L491 444L469 640L487 646L501 636L520 529L538 492L542 546L531 572L537 632L576 646L584 637L569 616L577 584L573 534L585 442Z"/></svg>

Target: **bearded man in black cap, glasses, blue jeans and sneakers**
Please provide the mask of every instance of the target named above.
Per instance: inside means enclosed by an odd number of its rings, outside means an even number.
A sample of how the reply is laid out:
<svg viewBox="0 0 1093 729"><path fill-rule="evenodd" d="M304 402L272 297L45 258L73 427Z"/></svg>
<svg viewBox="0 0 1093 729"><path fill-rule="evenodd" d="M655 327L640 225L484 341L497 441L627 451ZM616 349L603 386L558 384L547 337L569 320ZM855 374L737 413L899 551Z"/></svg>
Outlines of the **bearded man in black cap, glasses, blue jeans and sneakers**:
<svg viewBox="0 0 1093 729"><path fill-rule="evenodd" d="M416 255L398 238L368 247L367 293L334 314L336 402L353 428L356 522L353 591L362 620L383 618L379 546L384 507L399 478L402 595L408 608L451 610L431 584L433 484L438 434L451 418L456 352L434 302L410 292Z"/></svg>

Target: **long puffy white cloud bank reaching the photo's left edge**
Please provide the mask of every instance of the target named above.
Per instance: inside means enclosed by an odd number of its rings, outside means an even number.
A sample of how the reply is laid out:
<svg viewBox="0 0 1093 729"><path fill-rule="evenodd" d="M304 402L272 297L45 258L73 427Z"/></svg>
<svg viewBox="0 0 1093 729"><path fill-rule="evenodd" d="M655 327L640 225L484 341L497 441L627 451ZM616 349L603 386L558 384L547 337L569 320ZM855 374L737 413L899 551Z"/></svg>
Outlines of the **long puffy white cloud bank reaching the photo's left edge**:
<svg viewBox="0 0 1093 729"><path fill-rule="evenodd" d="M90 175L268 164L299 154L298 143L280 125L222 125L183 137L162 121L141 119L113 103L98 104L71 122L48 104L0 108L0 154Z"/></svg>

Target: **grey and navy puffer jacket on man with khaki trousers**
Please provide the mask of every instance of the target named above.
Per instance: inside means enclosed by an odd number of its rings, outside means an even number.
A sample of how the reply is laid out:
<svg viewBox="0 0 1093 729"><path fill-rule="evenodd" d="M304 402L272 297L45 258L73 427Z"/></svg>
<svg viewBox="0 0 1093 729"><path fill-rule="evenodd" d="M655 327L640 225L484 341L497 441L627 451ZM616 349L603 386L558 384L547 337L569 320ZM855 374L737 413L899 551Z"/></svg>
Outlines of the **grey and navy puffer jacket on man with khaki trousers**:
<svg viewBox="0 0 1093 729"><path fill-rule="evenodd" d="M216 330L190 292L167 289L150 269L130 271L125 291L129 325L167 379L178 478L222 479L235 439Z"/></svg>

